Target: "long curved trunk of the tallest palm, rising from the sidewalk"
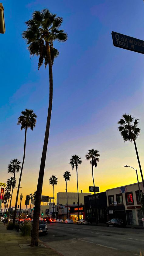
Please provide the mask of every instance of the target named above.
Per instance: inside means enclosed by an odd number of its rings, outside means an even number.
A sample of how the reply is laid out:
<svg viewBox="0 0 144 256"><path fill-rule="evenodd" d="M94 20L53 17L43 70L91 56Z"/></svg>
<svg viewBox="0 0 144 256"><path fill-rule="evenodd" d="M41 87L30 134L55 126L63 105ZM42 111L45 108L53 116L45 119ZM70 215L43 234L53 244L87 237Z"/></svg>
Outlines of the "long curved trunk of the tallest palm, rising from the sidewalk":
<svg viewBox="0 0 144 256"><path fill-rule="evenodd" d="M49 140L52 102L53 102L53 69L52 69L52 62L51 62L51 56L50 56L50 46L48 42L46 42L46 51L47 51L47 57L49 62L49 84L50 84L49 108L48 108L46 131L45 131L45 137L44 137L44 143L43 143L43 152L42 152L40 169L39 169L39 178L38 178L37 190L36 190L36 202L35 202L35 210L34 210L34 216L33 216L33 232L32 232L31 246L38 245L39 212L40 212L40 203L41 203L41 195L42 195L42 188L43 188L44 168L45 168L45 162L46 162L46 151L47 151L47 145Z"/></svg>

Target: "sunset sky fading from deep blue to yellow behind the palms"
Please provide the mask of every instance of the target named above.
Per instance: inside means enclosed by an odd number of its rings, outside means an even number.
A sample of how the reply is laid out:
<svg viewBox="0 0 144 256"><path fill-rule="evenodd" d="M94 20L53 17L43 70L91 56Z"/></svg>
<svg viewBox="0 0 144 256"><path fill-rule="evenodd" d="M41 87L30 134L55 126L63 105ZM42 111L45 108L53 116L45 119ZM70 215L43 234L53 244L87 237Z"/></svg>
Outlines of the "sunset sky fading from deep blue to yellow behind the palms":
<svg viewBox="0 0 144 256"><path fill-rule="evenodd" d="M51 175L58 177L55 196L64 192L63 172L67 170L71 171L68 191L77 192L76 171L69 164L73 154L82 158L78 167L79 190L89 192L93 182L85 154L92 148L100 153L94 175L100 192L135 183L134 170L123 167L131 165L139 173L134 145L124 143L117 122L125 112L140 119L137 146L143 168L144 56L114 47L111 31L144 40L143 0L3 0L2 3L6 32L0 34L0 182L10 178L7 167L11 159L22 161L24 130L20 131L16 123L21 111L31 108L38 117L35 129L27 132L20 189L24 195L22 207L25 196L36 190L48 109L49 74L48 67L38 71L38 58L30 58L22 31L34 10L48 8L63 17L61 27L68 33L68 40L54 43L60 56L53 65L53 109L42 194L53 196L49 185ZM12 206L15 195L16 189Z"/></svg>

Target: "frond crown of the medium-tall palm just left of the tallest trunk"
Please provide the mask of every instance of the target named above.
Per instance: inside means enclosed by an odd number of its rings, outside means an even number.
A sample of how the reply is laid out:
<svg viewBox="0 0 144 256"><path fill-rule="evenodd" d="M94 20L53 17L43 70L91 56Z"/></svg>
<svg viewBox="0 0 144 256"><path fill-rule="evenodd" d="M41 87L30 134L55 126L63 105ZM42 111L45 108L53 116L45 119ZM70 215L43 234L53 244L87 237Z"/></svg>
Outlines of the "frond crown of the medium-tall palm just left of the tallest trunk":
<svg viewBox="0 0 144 256"><path fill-rule="evenodd" d="M21 125L21 130L30 128L33 131L33 127L36 126L36 114L32 109L25 109L21 114L18 118L17 125Z"/></svg>

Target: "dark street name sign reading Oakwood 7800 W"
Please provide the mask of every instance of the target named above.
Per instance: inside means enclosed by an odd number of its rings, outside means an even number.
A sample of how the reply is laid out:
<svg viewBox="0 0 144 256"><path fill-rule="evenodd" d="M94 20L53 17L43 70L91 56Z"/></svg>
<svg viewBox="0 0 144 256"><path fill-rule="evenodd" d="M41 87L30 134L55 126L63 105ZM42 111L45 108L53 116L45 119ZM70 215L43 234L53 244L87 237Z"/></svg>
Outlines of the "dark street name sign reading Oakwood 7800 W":
<svg viewBox="0 0 144 256"><path fill-rule="evenodd" d="M112 31L113 44L116 47L144 54L144 41Z"/></svg>

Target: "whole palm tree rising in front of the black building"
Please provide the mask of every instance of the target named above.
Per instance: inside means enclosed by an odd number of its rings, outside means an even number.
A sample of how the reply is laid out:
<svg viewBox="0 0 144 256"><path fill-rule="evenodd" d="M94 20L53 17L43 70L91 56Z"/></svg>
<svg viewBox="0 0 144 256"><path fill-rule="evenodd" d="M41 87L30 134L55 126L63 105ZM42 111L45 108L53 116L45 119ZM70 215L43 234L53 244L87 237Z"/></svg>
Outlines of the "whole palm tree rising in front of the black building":
<svg viewBox="0 0 144 256"><path fill-rule="evenodd" d="M90 160L90 164L92 165L92 179L93 179L93 185L94 185L94 166L95 168L97 168L97 162L99 162L99 158L100 154L98 154L98 150L88 150L89 152L87 152L87 154L85 155L86 160ZM94 185L95 187L95 185ZM97 212L96 212L96 194L95 194L95 190L94 190L94 197L95 197L95 218L96 218L96 222L98 222L98 216L97 216Z"/></svg>

